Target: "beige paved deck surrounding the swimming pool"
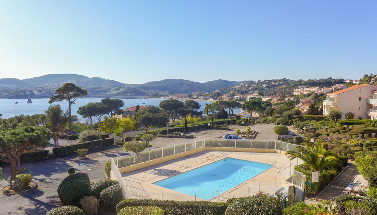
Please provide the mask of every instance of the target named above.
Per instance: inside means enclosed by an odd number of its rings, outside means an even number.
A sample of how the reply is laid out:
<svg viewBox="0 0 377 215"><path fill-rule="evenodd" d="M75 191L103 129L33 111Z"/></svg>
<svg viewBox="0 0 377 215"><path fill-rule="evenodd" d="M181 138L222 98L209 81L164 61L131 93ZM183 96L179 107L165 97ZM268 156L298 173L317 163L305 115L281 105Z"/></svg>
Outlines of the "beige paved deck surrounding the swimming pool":
<svg viewBox="0 0 377 215"><path fill-rule="evenodd" d="M278 153L203 151L154 166L123 173L123 180L130 188L132 198L181 201L202 199L209 200L212 198L210 195L196 197L190 196L168 188L154 185L153 183L201 167L214 161L224 159L224 156L221 153L225 153L227 157L265 164L272 164L274 161L277 161L279 168L269 168L255 177L250 178L238 186L224 192L222 195L219 193L220 195L211 201L226 201L226 199L231 197L255 195L258 191L273 193L275 188L277 189L280 186L289 185L289 183L284 181L284 178L286 179L289 177L289 175L292 175L292 172L289 170L281 171L283 167L289 166L290 164L297 164L296 159L290 161L285 155ZM300 161L298 162L301 163ZM281 172L276 174L279 171Z"/></svg>

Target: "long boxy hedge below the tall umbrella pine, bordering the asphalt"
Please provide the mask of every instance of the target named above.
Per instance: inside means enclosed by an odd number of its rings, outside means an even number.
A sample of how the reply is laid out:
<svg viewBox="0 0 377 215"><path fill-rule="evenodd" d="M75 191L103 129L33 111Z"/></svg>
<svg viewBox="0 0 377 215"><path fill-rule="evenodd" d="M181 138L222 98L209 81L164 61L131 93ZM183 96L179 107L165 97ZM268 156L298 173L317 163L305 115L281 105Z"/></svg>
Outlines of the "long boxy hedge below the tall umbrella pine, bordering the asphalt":
<svg viewBox="0 0 377 215"><path fill-rule="evenodd" d="M98 139L98 140L94 140L93 142L82 142L82 143L77 143L73 145L53 148L52 151L54 154L56 154L56 156L62 156L62 155L75 153L77 152L77 149L88 149L88 150L93 149L92 145L94 145L95 148L99 148L102 141L103 141L102 146L114 144L114 139L104 139L104 140Z"/></svg>

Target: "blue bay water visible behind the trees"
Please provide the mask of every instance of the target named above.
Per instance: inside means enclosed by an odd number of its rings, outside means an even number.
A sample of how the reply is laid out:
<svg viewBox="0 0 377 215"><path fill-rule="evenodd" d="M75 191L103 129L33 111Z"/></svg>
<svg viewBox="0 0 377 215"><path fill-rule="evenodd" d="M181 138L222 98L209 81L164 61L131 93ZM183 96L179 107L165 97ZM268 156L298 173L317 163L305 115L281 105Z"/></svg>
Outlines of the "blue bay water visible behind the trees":
<svg viewBox="0 0 377 215"><path fill-rule="evenodd" d="M77 114L78 107L84 106L90 102L100 102L103 98L78 98L76 99L74 105L72 105L72 115L77 115L80 122L86 123L87 119L82 118ZM145 98L136 98L136 99L121 99L124 102L123 108L128 108L136 105L145 106L145 105L155 105L158 106L161 101L164 99L145 99ZM0 99L0 114L2 118L14 117L14 115L34 115L34 114L44 114L44 111L49 107L49 98L39 98L32 99L32 103L28 104L27 99ZM185 100L180 100L184 102ZM15 104L15 102L18 102ZM212 101L197 101L201 105L200 110L204 110L206 103L212 103ZM53 104L59 103L63 110L68 109L68 102L54 102ZM145 103L145 104L143 104ZM14 105L15 105L15 114L14 114ZM240 109L235 109L234 113L240 112Z"/></svg>

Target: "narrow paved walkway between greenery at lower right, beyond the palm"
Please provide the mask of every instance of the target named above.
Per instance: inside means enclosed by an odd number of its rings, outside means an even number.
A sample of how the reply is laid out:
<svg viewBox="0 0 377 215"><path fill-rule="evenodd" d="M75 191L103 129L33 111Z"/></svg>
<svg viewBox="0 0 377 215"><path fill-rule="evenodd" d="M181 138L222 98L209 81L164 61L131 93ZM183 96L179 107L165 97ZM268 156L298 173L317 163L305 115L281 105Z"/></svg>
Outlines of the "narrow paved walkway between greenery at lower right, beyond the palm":
<svg viewBox="0 0 377 215"><path fill-rule="evenodd" d="M330 200L345 192L345 188L358 174L356 164L353 161L348 162L349 166L317 196L318 200Z"/></svg>

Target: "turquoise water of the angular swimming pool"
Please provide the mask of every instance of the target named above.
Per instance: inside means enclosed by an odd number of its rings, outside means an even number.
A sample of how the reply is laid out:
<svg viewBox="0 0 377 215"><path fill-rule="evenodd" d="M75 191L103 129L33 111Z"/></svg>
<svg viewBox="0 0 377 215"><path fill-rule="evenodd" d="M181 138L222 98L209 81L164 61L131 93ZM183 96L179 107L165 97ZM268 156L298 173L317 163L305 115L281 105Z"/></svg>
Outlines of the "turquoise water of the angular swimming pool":
<svg viewBox="0 0 377 215"><path fill-rule="evenodd" d="M154 184L187 195L212 196L215 190L226 192L271 167L264 163L226 158Z"/></svg>

